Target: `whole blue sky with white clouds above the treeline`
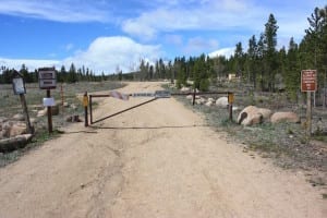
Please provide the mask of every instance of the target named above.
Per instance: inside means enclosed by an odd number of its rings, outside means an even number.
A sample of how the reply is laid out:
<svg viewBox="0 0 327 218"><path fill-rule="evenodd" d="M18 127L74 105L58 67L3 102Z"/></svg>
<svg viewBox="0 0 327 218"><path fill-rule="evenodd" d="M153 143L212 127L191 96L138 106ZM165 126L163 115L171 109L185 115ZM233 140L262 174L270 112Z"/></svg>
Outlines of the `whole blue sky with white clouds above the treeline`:
<svg viewBox="0 0 327 218"><path fill-rule="evenodd" d="M278 47L300 43L326 0L0 0L0 65L95 72L135 70L141 59L230 55L247 48L272 13Z"/></svg>

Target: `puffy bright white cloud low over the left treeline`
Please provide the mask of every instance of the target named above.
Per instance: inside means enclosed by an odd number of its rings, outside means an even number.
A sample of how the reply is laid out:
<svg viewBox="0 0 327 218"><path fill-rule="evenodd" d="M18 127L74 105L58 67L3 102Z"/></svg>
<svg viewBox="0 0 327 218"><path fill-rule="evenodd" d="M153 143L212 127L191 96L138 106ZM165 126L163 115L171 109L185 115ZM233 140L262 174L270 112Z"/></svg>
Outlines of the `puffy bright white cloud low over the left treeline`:
<svg viewBox="0 0 327 218"><path fill-rule="evenodd" d="M142 45L131 38L98 37L86 50L80 50L74 56L64 60L31 60L31 59L4 59L0 58L0 65L21 69L24 63L29 70L43 66L61 65L69 68L74 63L76 68L89 68L96 73L114 73L119 66L123 72L130 72L131 69L138 65L141 59L154 61L162 55L158 45Z"/></svg>

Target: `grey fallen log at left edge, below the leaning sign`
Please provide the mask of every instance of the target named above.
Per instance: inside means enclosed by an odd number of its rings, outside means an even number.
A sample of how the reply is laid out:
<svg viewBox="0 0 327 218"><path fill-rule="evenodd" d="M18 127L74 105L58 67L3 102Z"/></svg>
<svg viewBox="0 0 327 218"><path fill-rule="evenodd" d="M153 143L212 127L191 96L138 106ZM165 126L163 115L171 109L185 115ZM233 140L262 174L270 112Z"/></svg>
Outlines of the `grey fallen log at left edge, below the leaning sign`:
<svg viewBox="0 0 327 218"><path fill-rule="evenodd" d="M0 153L8 153L23 148L27 145L32 137L32 134L23 134L15 137L0 140Z"/></svg>

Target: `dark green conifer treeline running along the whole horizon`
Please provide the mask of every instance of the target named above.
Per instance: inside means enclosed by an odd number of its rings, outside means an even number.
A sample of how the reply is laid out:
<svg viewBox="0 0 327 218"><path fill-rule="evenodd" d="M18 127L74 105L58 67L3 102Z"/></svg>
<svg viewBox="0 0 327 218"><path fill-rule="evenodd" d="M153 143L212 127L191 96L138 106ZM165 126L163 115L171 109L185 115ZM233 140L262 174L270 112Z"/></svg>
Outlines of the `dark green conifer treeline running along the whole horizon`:
<svg viewBox="0 0 327 218"><path fill-rule="evenodd" d="M269 14L264 31L259 36L249 39L247 50L242 43L235 45L232 57L177 57L173 61L159 59L155 63L141 60L136 71L122 73L119 69L110 75L96 75L89 69L77 69L71 64L69 71L61 68L58 81L74 83L77 81L104 80L177 80L178 86L187 85L194 81L193 87L208 89L217 78L225 78L229 73L235 74L242 84L250 84L256 90L276 92L284 89L290 96L295 96L300 88L301 70L314 69L318 72L318 87L326 87L327 77L327 5L316 8L307 17L308 27L305 36L298 45L290 38L288 48L277 49L277 32L279 26L274 14ZM37 82L37 72L28 72L23 65L20 72L25 81ZM3 69L0 83L11 83L12 70Z"/></svg>

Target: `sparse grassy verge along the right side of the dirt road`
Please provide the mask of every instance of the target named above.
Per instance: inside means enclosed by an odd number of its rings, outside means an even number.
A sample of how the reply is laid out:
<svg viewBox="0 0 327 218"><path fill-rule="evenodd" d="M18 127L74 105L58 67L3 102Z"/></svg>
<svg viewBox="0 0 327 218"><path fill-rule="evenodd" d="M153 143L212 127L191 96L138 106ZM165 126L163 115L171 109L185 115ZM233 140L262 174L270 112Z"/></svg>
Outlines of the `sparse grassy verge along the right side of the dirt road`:
<svg viewBox="0 0 327 218"><path fill-rule="evenodd" d="M168 88L167 86L165 88ZM177 89L170 89L178 92ZM213 96L207 96L213 97ZM219 96L215 96L217 99ZM239 125L235 120L240 111L233 112L233 121L229 120L227 109L216 106L205 105L192 106L185 96L177 97L185 107L204 116L207 123L217 132L226 132L229 141L243 146L244 153L256 153L263 158L270 158L272 162L283 169L301 169L313 175L308 180L313 186L326 186L327 184L327 135L325 131L313 128L315 134L307 138L305 129L299 123L277 123L265 122L253 126ZM281 95L272 97L254 97L235 95L234 105L241 109L249 105L266 107L274 111L292 110ZM284 106L283 106L283 102ZM298 114L303 114L302 109L298 109ZM316 120L327 120L327 111L315 111L314 124ZM325 126L326 129L326 126ZM327 129L326 129L327 130ZM324 133L325 132L325 133ZM315 172L314 174L312 172Z"/></svg>

